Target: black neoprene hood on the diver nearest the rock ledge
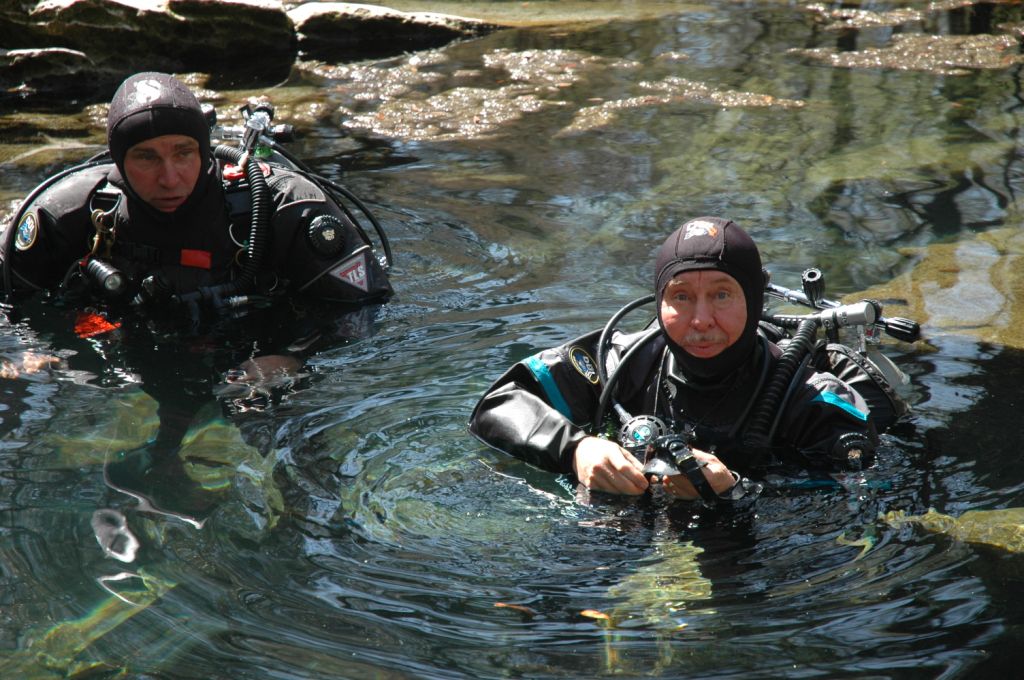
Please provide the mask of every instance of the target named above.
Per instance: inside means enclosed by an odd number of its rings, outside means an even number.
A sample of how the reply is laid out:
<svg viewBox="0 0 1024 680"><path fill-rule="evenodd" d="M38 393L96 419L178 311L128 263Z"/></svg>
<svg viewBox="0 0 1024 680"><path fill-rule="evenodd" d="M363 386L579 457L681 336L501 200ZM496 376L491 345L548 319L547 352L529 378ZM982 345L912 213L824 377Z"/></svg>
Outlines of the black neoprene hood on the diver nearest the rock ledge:
<svg viewBox="0 0 1024 680"><path fill-rule="evenodd" d="M125 154L135 144L164 134L183 134L199 142L201 174L210 162L210 125L196 95L181 81L163 73L126 79L111 99L106 143L124 175Z"/></svg>

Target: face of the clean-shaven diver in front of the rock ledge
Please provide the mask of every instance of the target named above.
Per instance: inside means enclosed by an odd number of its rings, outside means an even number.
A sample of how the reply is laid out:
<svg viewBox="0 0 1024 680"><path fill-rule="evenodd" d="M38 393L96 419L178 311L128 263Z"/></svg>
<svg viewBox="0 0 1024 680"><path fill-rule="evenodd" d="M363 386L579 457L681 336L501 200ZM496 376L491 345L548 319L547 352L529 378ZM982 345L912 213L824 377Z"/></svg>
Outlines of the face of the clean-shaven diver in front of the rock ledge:
<svg viewBox="0 0 1024 680"><path fill-rule="evenodd" d="M203 167L199 141L164 134L140 141L125 155L125 179L135 194L162 212L174 212L196 188Z"/></svg>

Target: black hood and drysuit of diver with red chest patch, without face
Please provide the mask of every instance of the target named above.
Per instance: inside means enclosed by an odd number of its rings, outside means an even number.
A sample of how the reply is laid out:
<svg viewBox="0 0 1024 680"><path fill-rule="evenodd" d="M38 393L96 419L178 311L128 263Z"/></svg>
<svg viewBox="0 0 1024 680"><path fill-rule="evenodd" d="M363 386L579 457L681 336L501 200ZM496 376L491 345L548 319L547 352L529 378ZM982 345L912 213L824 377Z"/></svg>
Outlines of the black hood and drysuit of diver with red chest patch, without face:
<svg viewBox="0 0 1024 680"><path fill-rule="evenodd" d="M163 135L199 143L195 186L171 212L146 203L125 179L129 150ZM83 259L120 269L128 283L118 299L141 305L174 296L177 303L217 304L230 295L280 291L365 304L391 294L366 235L316 182L251 157L240 168L242 159L230 152L233 164L214 160L206 116L176 79L144 73L126 80L111 103L108 143L110 162L45 184L18 211L3 252L14 299L38 290L94 294L81 290L88 288L84 267L74 265ZM259 172L248 172L254 168ZM256 185L267 190L254 201ZM100 228L93 211L102 213L98 221L111 236L89 258ZM264 213L265 231L254 232L254 211Z"/></svg>

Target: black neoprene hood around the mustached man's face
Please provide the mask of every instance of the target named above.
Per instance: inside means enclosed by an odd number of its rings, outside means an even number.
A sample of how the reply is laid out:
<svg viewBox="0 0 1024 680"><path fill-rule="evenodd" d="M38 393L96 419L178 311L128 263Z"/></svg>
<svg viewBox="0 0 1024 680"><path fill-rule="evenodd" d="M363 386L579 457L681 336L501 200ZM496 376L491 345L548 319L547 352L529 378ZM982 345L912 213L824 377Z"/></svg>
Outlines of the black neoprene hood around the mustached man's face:
<svg viewBox="0 0 1024 680"><path fill-rule="evenodd" d="M739 283L746 301L746 324L732 345L711 358L697 358L672 341L669 349L685 377L697 381L724 378L742 366L756 347L758 323L764 307L765 279L761 254L754 240L739 225L721 217L696 217L685 222L657 250L654 260L654 301L662 308L662 296L673 277L684 271L723 271ZM665 330L662 314L657 323Z"/></svg>

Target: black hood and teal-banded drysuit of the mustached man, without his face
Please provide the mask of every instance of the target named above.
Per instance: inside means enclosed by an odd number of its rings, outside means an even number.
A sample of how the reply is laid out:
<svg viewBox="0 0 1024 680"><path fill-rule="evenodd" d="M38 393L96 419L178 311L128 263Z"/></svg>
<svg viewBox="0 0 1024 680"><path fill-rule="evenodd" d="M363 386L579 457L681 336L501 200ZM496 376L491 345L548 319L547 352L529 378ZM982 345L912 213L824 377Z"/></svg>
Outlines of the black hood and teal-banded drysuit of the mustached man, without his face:
<svg viewBox="0 0 1024 680"><path fill-rule="evenodd" d="M690 220L657 253L658 307L670 282L687 271L722 271L742 289L745 322L727 349L711 358L688 353L670 336L663 313L656 328L611 333L606 347L598 346L603 334L595 331L507 371L476 405L471 433L545 470L574 474L581 442L606 433L606 423L597 422L612 412L599 413L604 396L606 405L627 414L658 419L670 433L685 432L694 451L710 454L716 465L733 473L733 484L716 488L718 494L708 494L697 479L693 485L706 500L728 498L742 477L763 472L769 463L824 471L870 464L878 431L905 410L870 363L843 345L817 347L808 365L796 372L784 403L772 405L777 421L772 418L767 429L752 432L759 395L766 392L782 354L772 341L780 338L777 329L760 323L766 280L757 247L734 222ZM602 356L603 376L595 358ZM610 398L603 392L609 376L614 376ZM642 467L640 452L621 454L626 463L616 462L611 476L632 476ZM707 469L709 461L703 459L701 467ZM645 488L638 481L618 493Z"/></svg>

